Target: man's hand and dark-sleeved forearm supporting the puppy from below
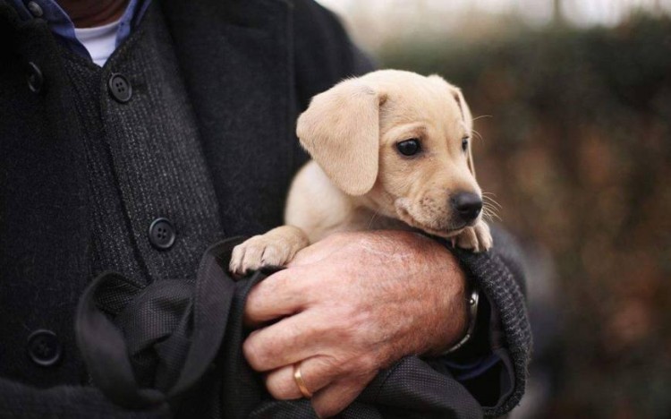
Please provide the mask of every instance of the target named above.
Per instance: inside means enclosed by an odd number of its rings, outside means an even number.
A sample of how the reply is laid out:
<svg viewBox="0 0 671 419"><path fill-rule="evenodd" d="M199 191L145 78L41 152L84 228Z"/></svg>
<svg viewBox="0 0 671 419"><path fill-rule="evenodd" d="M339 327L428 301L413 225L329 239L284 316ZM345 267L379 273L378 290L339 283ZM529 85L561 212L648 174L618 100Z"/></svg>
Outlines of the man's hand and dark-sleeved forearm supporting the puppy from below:
<svg viewBox="0 0 671 419"><path fill-rule="evenodd" d="M472 373L464 381L486 415L502 415L522 396L529 356L522 293L496 251L456 253L471 280L501 309L482 319L484 341L464 347L468 352L460 351L461 359L451 358L468 368L478 356L496 357L480 372L480 382ZM302 397L292 375L293 364L301 363L316 393L313 406L332 414L380 369L404 355L437 353L461 338L464 283L446 247L427 237L395 231L333 235L252 290L246 312L251 325L283 320L252 333L245 355L257 371L268 373L268 389L281 399ZM429 362L440 371L436 359Z"/></svg>

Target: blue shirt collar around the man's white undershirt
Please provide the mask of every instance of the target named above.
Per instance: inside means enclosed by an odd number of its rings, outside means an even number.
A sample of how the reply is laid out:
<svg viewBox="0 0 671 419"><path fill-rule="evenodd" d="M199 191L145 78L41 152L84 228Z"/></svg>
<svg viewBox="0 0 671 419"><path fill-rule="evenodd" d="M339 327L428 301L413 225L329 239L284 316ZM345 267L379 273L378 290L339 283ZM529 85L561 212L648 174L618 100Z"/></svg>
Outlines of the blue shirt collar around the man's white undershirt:
<svg viewBox="0 0 671 419"><path fill-rule="evenodd" d="M126 6L125 12L119 21L119 29L116 31L116 47L131 35L131 30L138 25L144 13L147 12L151 0L130 0ZM74 23L67 13L58 5L55 0L9 0L21 19L28 21L30 19L44 19L49 25L49 29L54 33L65 47L89 60L91 56L80 40L74 35Z"/></svg>

